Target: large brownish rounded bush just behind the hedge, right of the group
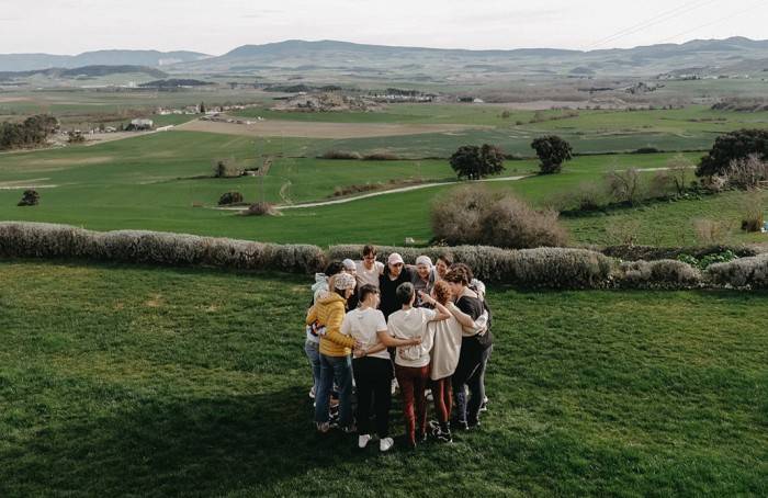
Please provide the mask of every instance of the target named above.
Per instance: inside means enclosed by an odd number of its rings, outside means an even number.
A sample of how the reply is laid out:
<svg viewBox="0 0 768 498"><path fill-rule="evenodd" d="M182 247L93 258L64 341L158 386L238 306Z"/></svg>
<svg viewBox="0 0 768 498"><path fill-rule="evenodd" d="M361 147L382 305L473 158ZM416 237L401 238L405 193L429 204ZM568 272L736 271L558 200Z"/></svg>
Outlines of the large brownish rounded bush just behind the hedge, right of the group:
<svg viewBox="0 0 768 498"><path fill-rule="evenodd" d="M511 249L565 246L565 228L553 210L535 211L530 204L506 195L481 219L483 244Z"/></svg>

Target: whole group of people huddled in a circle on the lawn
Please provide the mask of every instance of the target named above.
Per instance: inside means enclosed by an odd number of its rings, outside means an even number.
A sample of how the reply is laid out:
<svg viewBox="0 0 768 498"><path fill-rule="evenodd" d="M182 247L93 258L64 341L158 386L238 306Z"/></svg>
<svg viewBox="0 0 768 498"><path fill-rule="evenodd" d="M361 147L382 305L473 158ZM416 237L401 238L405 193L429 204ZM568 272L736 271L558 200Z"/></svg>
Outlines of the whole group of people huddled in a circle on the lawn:
<svg viewBox="0 0 768 498"><path fill-rule="evenodd" d="M487 403L484 377L493 337L485 286L449 254L434 265L426 256L406 265L396 252L386 262L365 246L360 261L334 262L315 275L305 352L317 430L336 425L332 406L338 427L358 433L359 448L377 437L380 450L388 451L398 386L407 443L415 448L428 434L451 442L452 427L479 426ZM437 420L428 422L430 389Z"/></svg>

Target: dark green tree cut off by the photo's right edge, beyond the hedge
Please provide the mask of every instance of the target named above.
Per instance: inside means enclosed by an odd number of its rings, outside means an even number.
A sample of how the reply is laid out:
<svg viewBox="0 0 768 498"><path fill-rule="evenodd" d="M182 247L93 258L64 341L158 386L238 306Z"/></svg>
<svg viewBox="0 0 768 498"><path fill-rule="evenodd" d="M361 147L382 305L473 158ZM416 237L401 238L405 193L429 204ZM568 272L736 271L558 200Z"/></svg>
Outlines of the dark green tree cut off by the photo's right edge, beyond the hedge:
<svg viewBox="0 0 768 498"><path fill-rule="evenodd" d="M723 176L731 161L756 155L768 160L768 129L738 129L720 135L709 154L701 158L696 169L697 177Z"/></svg>

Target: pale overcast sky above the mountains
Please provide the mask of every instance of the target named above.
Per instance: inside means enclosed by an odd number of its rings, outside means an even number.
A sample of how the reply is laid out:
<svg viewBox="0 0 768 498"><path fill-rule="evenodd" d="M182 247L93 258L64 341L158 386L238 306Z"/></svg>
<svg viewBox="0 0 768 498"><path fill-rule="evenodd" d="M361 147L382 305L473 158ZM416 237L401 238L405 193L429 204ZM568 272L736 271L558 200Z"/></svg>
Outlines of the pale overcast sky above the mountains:
<svg viewBox="0 0 768 498"><path fill-rule="evenodd" d="M105 48L221 55L339 39L439 48L629 48L768 39L768 0L0 0L0 53Z"/></svg>

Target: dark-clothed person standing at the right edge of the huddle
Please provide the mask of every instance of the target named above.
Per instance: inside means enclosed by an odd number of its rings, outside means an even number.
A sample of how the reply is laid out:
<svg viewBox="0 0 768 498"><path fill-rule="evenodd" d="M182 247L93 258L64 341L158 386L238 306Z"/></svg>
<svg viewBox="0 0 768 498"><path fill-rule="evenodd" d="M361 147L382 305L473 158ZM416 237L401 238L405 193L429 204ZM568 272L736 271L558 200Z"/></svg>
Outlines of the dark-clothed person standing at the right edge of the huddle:
<svg viewBox="0 0 768 498"><path fill-rule="evenodd" d="M444 281L451 287L456 308L473 320L479 318L487 309L477 293L467 286L465 271L452 269L445 274ZM485 397L485 369L492 350L493 335L489 322L481 331L462 327L459 364L452 378L456 405L454 425L461 429L472 429L479 426L479 411ZM465 386L470 389L468 401L464 391Z"/></svg>

